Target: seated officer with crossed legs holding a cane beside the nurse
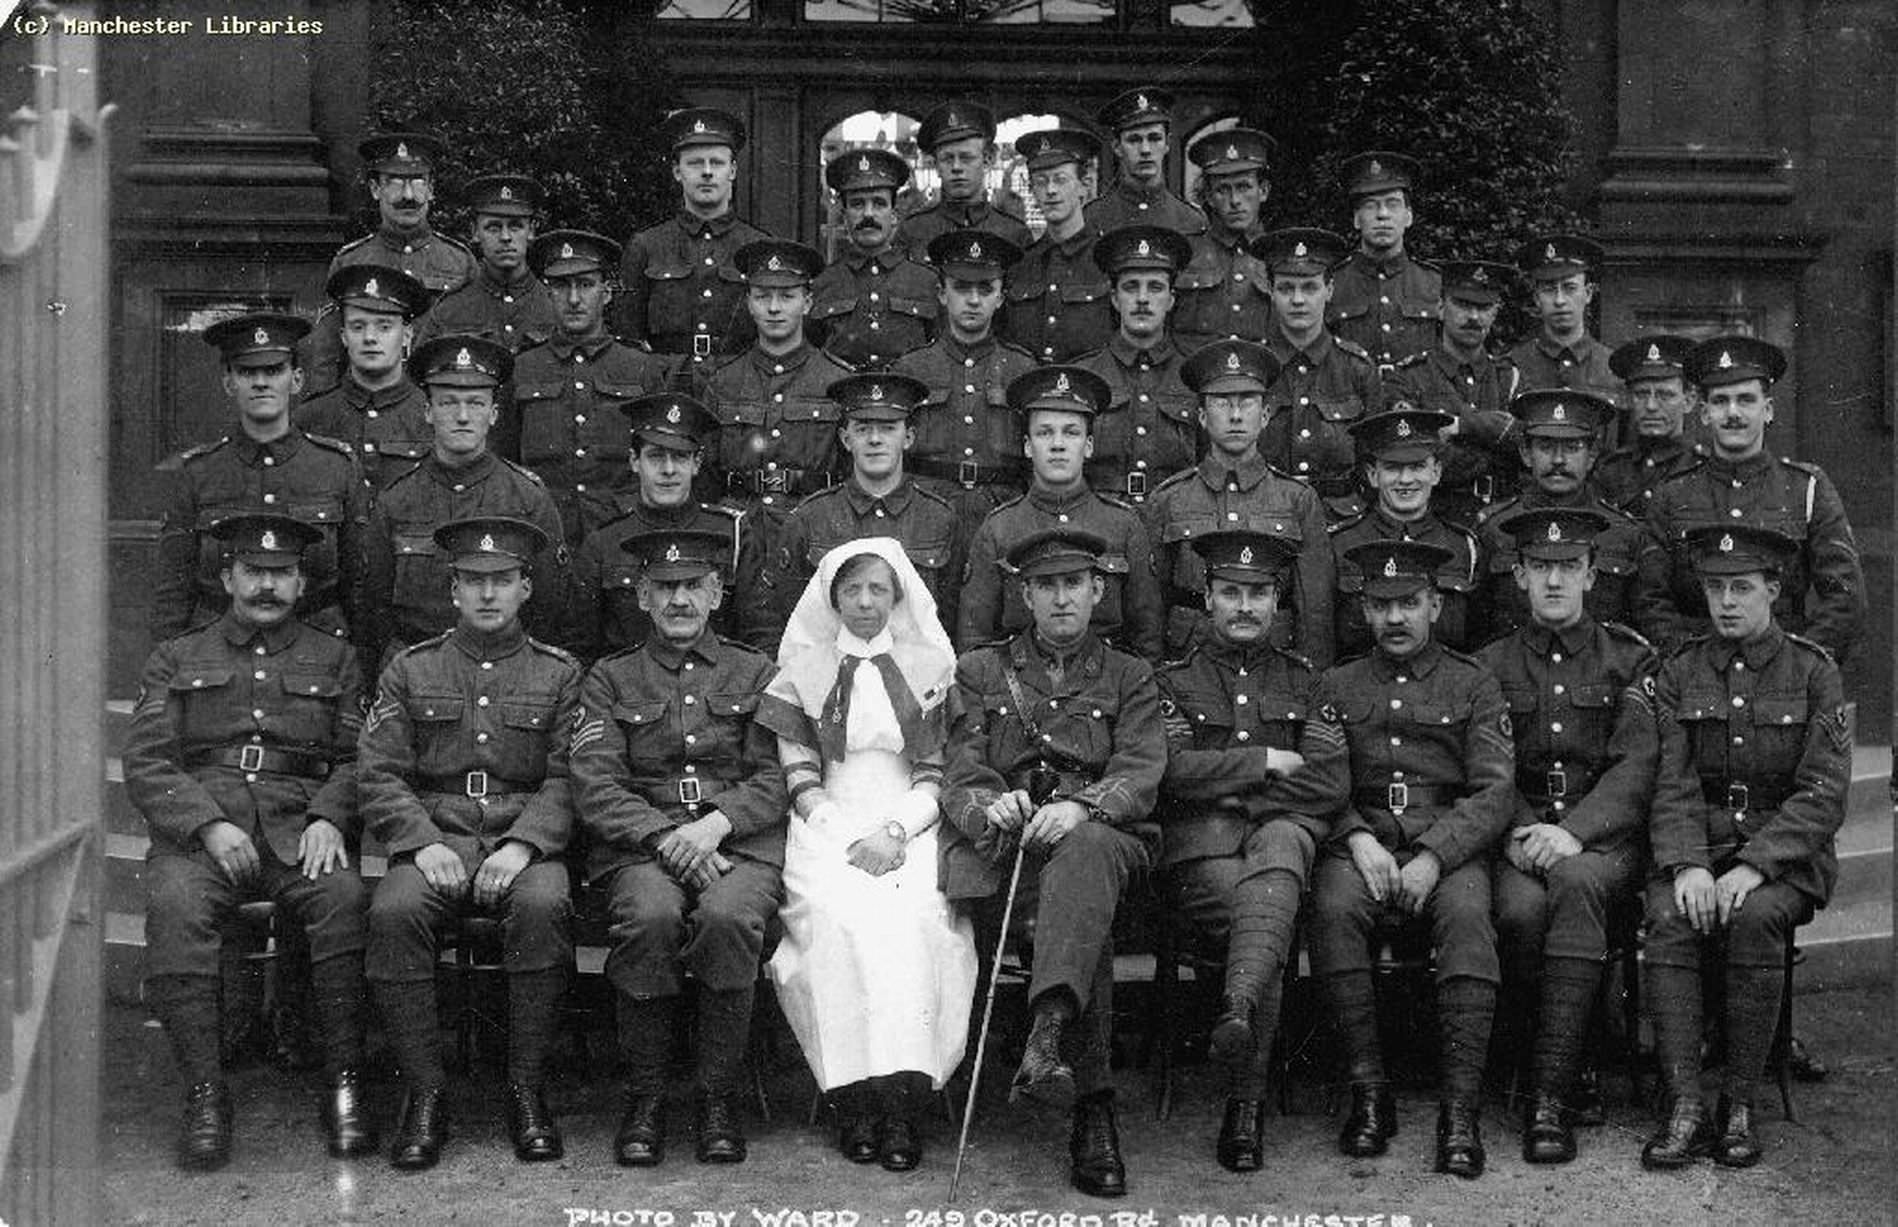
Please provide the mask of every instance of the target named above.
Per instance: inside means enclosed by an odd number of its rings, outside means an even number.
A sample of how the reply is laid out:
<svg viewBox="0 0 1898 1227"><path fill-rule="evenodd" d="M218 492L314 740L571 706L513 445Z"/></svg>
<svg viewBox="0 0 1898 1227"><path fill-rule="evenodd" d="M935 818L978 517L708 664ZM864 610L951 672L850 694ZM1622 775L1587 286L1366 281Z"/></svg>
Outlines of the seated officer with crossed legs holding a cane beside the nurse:
<svg viewBox="0 0 1898 1227"><path fill-rule="evenodd" d="M1167 764L1152 667L1089 629L1108 549L1070 526L1014 543L1008 564L1034 621L957 663L941 800L943 893L983 900L991 934L1010 853L1025 857L1015 916L1034 933L1034 1022L1012 1096L1074 1100L1069 1178L1093 1197L1127 1191L1108 1073L1112 923L1150 862L1129 828L1152 811Z"/></svg>

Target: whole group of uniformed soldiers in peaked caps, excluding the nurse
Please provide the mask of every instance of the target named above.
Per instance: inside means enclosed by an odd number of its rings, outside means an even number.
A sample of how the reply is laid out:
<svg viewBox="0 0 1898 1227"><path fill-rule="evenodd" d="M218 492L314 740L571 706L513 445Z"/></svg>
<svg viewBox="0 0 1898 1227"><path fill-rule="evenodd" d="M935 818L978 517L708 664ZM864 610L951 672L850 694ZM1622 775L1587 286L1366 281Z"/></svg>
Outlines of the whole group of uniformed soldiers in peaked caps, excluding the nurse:
<svg viewBox="0 0 1898 1227"><path fill-rule="evenodd" d="M1266 232L1272 142L1217 131L1186 150L1201 213L1165 186L1169 103L1135 89L1101 135L1015 141L1038 237L985 194L993 116L947 103L921 127L940 198L911 213L902 158L826 165L829 264L735 217L744 129L719 110L666 122L679 211L626 243L545 230L537 182L484 175L463 247L429 226L442 146L363 142L380 226L332 262L332 308L207 329L237 425L167 465L125 775L188 1164L230 1153L216 952L256 893L307 931L332 1153L378 1145L372 997L404 1081L393 1161L437 1162L437 950L476 912L503 929L514 1151L562 1155L543 1086L575 879L611 927L617 1161L664 1157L687 980L697 1157L742 1161L790 809L754 714L818 560L860 538L903 545L964 653L940 885L993 936L1025 857L1015 1090L1070 1107L1078 1189L1126 1191L1112 917L1146 872L1226 965L1232 1170L1262 1162L1300 917L1344 1153L1397 1132L1384 934L1435 952L1437 1168L1473 1178L1498 1022L1526 1050L1524 1157L1573 1157L1602 955L1646 916L1668 1109L1642 1159L1758 1161L1786 936L1835 872L1835 657L1866 610L1832 482L1765 446L1784 355L1604 346L1600 249L1575 236L1513 266L1412 256L1401 154L1346 163L1355 241ZM1086 199L1103 156L1118 175ZM1518 281L1539 332L1498 355ZM374 889L364 832L389 855Z"/></svg>

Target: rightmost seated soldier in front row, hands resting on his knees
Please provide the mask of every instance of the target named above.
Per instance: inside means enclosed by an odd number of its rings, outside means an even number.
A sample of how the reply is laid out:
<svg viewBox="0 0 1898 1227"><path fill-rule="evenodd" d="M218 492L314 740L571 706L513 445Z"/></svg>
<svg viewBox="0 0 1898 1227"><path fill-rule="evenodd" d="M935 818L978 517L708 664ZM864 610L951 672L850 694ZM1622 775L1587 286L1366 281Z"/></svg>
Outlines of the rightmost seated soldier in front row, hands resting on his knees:
<svg viewBox="0 0 1898 1227"><path fill-rule="evenodd" d="M1761 1155L1754 1086L1778 1024L1786 942L1839 876L1833 836L1845 822L1852 729L1832 655L1773 614L1799 541L1754 524L1704 524L1689 539L1714 632L1674 651L1655 680L1646 961L1668 1111L1642 1166L1680 1168L1712 1153L1746 1168ZM1727 1067L1710 1126L1701 976L1716 965Z"/></svg>

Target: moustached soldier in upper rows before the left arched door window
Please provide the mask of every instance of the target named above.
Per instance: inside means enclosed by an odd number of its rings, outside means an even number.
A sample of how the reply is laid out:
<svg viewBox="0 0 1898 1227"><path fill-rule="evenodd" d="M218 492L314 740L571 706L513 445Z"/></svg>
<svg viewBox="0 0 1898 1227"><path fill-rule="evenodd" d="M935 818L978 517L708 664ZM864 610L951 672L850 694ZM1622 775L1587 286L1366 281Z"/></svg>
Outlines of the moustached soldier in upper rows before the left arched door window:
<svg viewBox="0 0 1898 1227"><path fill-rule="evenodd" d="M896 192L909 163L890 150L850 150L829 160L824 182L837 194L848 247L810 283L812 330L843 365L881 370L936 334L936 277L898 243Z"/></svg>

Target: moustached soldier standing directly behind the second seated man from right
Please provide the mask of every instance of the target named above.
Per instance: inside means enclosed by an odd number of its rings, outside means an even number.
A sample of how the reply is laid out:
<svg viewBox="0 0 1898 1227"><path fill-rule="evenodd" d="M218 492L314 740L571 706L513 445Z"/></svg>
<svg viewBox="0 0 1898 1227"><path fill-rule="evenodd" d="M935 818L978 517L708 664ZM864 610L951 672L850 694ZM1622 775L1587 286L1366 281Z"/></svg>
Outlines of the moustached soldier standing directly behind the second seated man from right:
<svg viewBox="0 0 1898 1227"><path fill-rule="evenodd" d="M1492 505L1477 520L1482 547L1484 632L1499 638L1530 625L1532 595L1517 572L1515 534L1503 520L1517 511L1572 507L1594 511L1604 524L1591 534L1589 615L1596 621L1632 621L1634 566L1642 553L1642 526L1600 498L1591 481L1600 439L1615 416L1615 406L1587 391L1545 387L1526 391L1509 406L1522 431L1522 463L1530 488Z"/></svg>

